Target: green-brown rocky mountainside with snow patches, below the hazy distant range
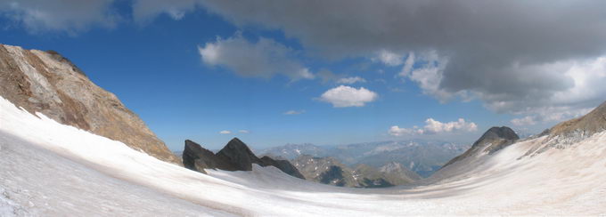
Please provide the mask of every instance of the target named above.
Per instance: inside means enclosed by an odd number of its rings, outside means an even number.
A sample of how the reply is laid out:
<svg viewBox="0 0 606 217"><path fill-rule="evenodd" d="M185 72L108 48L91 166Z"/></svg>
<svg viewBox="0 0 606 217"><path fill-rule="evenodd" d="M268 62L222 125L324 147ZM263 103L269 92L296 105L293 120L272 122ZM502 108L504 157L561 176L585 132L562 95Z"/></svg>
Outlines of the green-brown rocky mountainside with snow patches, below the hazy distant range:
<svg viewBox="0 0 606 217"><path fill-rule="evenodd" d="M380 169L369 165L351 168L333 157L302 155L293 160L293 165L309 181L340 187L380 188L408 184L420 179L416 173L395 162Z"/></svg>

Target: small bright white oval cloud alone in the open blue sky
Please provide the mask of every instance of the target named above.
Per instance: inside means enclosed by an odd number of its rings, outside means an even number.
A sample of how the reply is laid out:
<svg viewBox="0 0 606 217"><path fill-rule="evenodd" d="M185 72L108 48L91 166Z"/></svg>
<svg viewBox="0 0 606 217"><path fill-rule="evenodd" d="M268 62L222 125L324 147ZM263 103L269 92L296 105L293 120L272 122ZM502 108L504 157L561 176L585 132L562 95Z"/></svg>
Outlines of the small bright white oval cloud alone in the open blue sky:
<svg viewBox="0 0 606 217"><path fill-rule="evenodd" d="M332 103L332 107L363 107L365 103L376 100L378 94L367 90L364 87L356 89L354 87L340 85L332 88L320 96L320 100Z"/></svg>

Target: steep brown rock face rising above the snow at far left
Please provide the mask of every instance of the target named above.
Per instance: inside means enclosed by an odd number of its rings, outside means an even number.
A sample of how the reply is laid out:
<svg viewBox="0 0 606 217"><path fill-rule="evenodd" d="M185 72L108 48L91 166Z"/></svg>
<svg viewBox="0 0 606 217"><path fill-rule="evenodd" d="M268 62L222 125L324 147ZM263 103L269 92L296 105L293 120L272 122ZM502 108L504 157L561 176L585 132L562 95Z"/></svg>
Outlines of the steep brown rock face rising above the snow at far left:
<svg viewBox="0 0 606 217"><path fill-rule="evenodd" d="M0 44L0 95L32 114L78 127L180 164L143 121L57 52Z"/></svg>

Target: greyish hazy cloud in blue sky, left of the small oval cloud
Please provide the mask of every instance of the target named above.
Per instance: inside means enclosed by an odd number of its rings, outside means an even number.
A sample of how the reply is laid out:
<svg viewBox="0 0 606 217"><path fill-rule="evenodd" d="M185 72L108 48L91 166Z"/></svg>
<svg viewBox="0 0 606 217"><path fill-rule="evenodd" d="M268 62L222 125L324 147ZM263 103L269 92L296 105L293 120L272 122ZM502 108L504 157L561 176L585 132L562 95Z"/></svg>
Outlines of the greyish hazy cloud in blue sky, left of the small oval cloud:
<svg viewBox="0 0 606 217"><path fill-rule="evenodd" d="M270 78L288 76L291 80L315 78L308 68L293 60L293 51L272 39L259 38L251 43L240 34L199 46L202 61L209 66L224 66L240 76Z"/></svg>

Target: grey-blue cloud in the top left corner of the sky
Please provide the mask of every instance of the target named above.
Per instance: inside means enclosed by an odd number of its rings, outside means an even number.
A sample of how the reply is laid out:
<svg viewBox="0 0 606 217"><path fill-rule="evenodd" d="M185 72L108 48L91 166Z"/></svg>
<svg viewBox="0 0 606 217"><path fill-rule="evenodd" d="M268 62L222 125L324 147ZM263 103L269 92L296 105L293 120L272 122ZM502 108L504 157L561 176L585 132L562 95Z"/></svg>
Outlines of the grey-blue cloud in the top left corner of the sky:
<svg viewBox="0 0 606 217"><path fill-rule="evenodd" d="M112 3L113 0L7 0L0 3L0 15L32 33L77 33L92 25L114 27L120 18L111 8Z"/></svg>

